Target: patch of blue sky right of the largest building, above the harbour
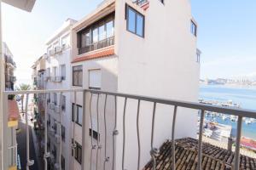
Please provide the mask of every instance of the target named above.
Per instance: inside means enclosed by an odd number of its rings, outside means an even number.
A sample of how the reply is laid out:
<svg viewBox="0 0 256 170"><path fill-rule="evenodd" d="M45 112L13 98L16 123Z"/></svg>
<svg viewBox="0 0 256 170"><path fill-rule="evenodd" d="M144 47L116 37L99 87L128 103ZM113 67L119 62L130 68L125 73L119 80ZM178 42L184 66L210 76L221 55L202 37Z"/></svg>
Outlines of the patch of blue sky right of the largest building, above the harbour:
<svg viewBox="0 0 256 170"><path fill-rule="evenodd" d="M191 0L191 6L199 25L201 78L255 74L256 1Z"/></svg>

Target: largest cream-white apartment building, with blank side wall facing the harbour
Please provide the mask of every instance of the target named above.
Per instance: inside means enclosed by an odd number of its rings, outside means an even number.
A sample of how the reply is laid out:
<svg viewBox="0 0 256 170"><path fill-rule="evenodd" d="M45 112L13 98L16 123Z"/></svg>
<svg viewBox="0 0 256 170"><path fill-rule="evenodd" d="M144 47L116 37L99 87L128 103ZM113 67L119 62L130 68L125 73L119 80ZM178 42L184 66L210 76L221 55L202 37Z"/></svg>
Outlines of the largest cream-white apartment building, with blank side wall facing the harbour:
<svg viewBox="0 0 256 170"><path fill-rule="evenodd" d="M187 0L103 1L91 14L73 26L72 39L72 88L190 102L198 99L200 51L196 48L197 24ZM108 99L107 121L103 118L102 108L89 111L90 116L82 115L82 94L79 94L76 102L71 99L75 108L79 108L73 111L73 144L77 147L74 149L76 154L73 156L72 169L81 169L82 159L86 169L90 166L121 169L124 132L119 130L119 135L116 135L115 129L123 127L121 115L124 99L117 99L117 117L114 115L114 107L108 107L113 106L115 100ZM93 105L92 108L104 103L104 99L106 97L97 94L85 98L87 102L90 101L89 105ZM152 114L148 116L147 113L153 105L134 101L127 101L128 104L130 107L125 112L125 123L132 126L125 132L129 136L125 145L125 168L137 169L137 166L142 168L150 159L148 141ZM143 108L138 116L143 120L143 128L140 130L136 126L138 105ZM160 147L163 141L171 138L172 124L168 122L172 120L172 114L168 113L172 110L173 107L157 105L160 116L154 132L159 134L154 139L155 147ZM195 137L196 112L179 109L177 113L177 138ZM86 116L86 127L81 123L83 116ZM107 131L104 131L104 122L108 122ZM137 146L138 131L141 134L142 150ZM114 146L113 133L116 133L117 141ZM79 153L88 148L91 150L85 151L82 158ZM114 153L111 150L115 150ZM138 153L135 150L140 151L140 165L132 163L137 162Z"/></svg>

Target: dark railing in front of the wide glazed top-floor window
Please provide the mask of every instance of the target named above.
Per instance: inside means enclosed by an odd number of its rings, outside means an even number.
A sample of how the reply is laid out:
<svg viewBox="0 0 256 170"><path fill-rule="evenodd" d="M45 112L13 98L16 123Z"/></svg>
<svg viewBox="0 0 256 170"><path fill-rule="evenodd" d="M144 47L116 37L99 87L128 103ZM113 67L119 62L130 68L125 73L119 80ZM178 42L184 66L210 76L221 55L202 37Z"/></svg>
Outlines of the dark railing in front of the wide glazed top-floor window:
<svg viewBox="0 0 256 170"><path fill-rule="evenodd" d="M91 45L87 45L85 47L79 48L79 54L85 54L88 53L90 51L94 51L96 49L100 49L100 48L106 48L108 46L111 46L114 44L114 37L108 37L102 41L99 42L95 42Z"/></svg>

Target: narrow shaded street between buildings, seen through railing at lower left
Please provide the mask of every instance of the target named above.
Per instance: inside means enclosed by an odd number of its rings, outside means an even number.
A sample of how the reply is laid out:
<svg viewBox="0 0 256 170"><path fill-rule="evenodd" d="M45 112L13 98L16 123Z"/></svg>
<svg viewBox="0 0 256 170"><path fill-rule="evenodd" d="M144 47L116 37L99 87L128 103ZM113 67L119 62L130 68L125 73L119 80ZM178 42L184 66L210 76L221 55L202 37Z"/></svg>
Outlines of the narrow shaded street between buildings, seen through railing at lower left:
<svg viewBox="0 0 256 170"><path fill-rule="evenodd" d="M18 154L20 155L21 169L26 170L26 124L19 122L20 133L17 134ZM32 139L32 128L29 126L29 143L30 143L30 158L34 160L34 165L30 170L38 170L38 161L36 159L35 148Z"/></svg>

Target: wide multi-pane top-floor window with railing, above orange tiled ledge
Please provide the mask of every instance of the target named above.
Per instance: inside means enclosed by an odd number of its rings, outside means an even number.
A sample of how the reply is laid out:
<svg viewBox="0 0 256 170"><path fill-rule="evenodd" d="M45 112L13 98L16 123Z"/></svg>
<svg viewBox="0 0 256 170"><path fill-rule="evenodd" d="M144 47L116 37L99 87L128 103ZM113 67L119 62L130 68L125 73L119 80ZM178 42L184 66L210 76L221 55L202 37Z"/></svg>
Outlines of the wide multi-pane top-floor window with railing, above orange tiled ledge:
<svg viewBox="0 0 256 170"><path fill-rule="evenodd" d="M78 33L79 54L105 48L114 44L114 13L98 20Z"/></svg>

